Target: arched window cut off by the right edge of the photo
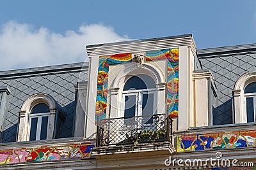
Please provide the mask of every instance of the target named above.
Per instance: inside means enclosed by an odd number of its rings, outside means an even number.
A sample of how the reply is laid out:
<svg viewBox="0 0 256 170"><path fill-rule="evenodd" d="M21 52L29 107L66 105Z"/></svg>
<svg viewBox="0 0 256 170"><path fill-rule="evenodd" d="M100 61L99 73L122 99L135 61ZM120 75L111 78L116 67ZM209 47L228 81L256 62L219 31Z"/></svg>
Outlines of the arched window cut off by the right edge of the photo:
<svg viewBox="0 0 256 170"><path fill-rule="evenodd" d="M244 88L244 101L247 122L255 122L256 82L249 83Z"/></svg>

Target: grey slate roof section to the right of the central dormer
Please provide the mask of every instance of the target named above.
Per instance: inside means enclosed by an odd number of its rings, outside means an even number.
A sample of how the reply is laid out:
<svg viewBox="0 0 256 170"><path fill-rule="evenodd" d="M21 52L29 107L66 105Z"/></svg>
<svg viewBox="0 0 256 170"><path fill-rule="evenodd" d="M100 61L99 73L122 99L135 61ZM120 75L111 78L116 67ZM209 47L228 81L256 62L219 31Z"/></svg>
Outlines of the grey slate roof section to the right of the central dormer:
<svg viewBox="0 0 256 170"><path fill-rule="evenodd" d="M214 125L232 124L233 90L240 76L256 71L256 44L197 50L202 69L211 70L218 91Z"/></svg>

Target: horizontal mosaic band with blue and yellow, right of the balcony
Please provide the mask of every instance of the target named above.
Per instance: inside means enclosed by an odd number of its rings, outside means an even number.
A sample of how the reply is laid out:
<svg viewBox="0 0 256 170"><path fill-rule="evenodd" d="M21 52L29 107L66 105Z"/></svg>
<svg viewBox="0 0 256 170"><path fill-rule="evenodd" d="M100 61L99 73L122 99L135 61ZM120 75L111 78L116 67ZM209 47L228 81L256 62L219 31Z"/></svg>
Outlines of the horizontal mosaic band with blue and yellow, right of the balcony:
<svg viewBox="0 0 256 170"><path fill-rule="evenodd" d="M249 148L254 146L256 146L255 130L177 136L177 152Z"/></svg>

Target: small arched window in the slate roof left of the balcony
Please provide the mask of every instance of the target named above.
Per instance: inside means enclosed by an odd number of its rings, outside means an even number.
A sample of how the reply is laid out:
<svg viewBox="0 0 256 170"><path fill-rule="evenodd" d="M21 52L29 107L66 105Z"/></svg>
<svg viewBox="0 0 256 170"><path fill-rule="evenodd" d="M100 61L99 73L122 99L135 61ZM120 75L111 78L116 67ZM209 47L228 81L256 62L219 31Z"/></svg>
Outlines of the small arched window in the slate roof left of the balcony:
<svg viewBox="0 0 256 170"><path fill-rule="evenodd" d="M49 106L45 103L36 104L29 115L29 141L47 139L49 129Z"/></svg>

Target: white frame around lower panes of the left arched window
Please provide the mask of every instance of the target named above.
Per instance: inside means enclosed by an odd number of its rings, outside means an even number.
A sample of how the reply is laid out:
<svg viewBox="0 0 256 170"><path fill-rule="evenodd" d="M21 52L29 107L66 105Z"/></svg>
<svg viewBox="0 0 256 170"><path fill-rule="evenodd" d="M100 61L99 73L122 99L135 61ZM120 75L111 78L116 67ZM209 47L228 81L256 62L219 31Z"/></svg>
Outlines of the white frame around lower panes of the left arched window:
<svg viewBox="0 0 256 170"><path fill-rule="evenodd" d="M47 134L49 131L49 118L50 118L50 113L33 113L30 114L29 116L29 129L28 129L28 139L30 137L30 130L31 130L31 119L32 118L37 118L37 125L36 125L36 141L40 140L40 135L41 135L41 127L42 127L42 118L43 117L48 117L47 121L47 131L46 131L46 139L47 139Z"/></svg>

